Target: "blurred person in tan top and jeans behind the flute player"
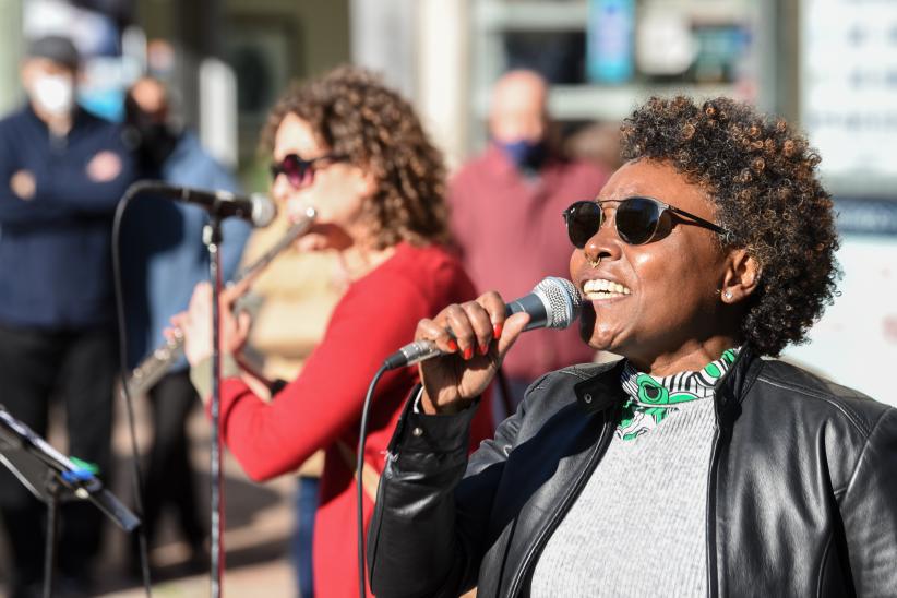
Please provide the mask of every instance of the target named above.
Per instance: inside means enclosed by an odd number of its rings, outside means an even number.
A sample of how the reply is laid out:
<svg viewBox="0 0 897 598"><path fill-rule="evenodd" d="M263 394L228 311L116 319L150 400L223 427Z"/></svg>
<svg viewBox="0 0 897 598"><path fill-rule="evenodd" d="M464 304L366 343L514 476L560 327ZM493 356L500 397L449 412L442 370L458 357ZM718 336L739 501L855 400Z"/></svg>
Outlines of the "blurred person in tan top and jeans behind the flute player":
<svg viewBox="0 0 897 598"><path fill-rule="evenodd" d="M243 254L252 263L290 226L286 202L275 220L256 229ZM252 306L252 328L244 355L268 380L292 380L321 342L333 308L346 291L340 264L333 252L300 251L295 244L278 254L252 283L246 302ZM324 452L318 451L297 471L290 555L297 596L313 591L312 539Z"/></svg>

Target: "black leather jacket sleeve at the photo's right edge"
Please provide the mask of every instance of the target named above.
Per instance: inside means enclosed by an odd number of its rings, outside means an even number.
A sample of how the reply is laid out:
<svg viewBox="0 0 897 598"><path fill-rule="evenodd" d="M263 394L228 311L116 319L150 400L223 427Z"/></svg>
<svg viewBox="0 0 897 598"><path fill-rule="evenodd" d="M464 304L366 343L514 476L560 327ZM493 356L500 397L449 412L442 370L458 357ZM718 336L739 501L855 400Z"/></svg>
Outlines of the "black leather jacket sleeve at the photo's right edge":
<svg viewBox="0 0 897 598"><path fill-rule="evenodd" d="M857 596L897 588L897 409L872 427L840 500Z"/></svg>

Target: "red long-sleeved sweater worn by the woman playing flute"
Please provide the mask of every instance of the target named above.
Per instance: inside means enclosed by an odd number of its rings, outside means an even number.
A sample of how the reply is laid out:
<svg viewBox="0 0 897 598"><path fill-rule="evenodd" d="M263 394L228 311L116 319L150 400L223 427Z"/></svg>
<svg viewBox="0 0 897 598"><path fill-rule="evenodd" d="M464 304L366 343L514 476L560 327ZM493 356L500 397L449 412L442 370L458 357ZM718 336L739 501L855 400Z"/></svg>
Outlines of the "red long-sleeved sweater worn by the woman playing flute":
<svg viewBox="0 0 897 598"><path fill-rule="evenodd" d="M314 527L318 596L358 594L356 486L337 441L355 453L368 385L383 360L414 338L417 322L474 297L470 279L444 249L399 243L392 258L349 287L302 373L274 402L260 400L240 379L222 383L222 435L251 478L292 471L325 448ZM378 473L416 383L417 369L405 368L387 372L378 384L364 452ZM489 411L479 409L471 444L491 435ZM366 527L372 509L366 498Z"/></svg>

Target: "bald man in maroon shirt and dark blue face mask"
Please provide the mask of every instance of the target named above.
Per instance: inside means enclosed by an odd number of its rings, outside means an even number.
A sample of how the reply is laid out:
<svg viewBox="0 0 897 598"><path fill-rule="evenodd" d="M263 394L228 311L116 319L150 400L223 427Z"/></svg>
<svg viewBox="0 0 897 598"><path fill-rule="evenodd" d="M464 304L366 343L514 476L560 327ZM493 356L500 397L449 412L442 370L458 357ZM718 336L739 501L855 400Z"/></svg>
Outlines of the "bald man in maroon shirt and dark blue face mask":
<svg viewBox="0 0 897 598"><path fill-rule="evenodd" d="M554 147L548 86L533 71L505 73L492 91L489 147L461 168L450 184L452 232L464 266L479 289L521 297L546 276L566 276L570 243L560 214L571 198L594 198L608 176L566 159ZM531 331L521 337L503 370L511 395L493 405L516 406L545 368L590 361L576 331ZM501 391L501 387L499 388ZM501 421L506 414L497 419Z"/></svg>

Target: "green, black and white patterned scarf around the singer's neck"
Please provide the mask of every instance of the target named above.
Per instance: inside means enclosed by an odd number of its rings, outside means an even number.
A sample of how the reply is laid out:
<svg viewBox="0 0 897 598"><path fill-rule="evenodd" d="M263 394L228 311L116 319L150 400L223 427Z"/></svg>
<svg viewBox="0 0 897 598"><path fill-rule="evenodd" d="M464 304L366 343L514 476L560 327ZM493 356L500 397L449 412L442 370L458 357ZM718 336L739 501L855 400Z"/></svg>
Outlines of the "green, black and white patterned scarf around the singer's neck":
<svg viewBox="0 0 897 598"><path fill-rule="evenodd" d="M680 372L656 378L639 373L626 363L621 383L629 398L623 403L623 412L617 427L617 436L634 440L660 424L665 418L678 409L674 405L713 398L714 386L734 362L740 347L728 349L722 357L711 361L703 370Z"/></svg>

